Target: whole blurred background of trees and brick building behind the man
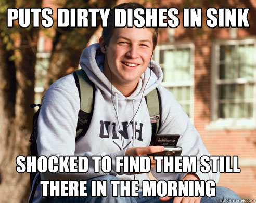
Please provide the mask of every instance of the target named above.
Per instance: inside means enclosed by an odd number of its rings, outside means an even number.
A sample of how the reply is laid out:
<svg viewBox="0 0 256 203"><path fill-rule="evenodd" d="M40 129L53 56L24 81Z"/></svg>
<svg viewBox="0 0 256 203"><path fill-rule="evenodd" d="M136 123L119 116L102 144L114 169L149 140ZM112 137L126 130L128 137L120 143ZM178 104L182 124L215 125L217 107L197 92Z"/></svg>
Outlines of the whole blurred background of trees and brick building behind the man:
<svg viewBox="0 0 256 203"><path fill-rule="evenodd" d="M124 1L0 0L0 201L24 202L29 174L16 157L29 154L34 109L49 85L79 66L82 50L97 43L98 28L57 28L57 8L105 8ZM154 60L167 87L189 115L212 155L238 156L240 173L222 173L219 186L256 198L256 1L137 1L178 8L180 26L160 28ZM50 7L54 26L6 26L7 8ZM208 28L207 8L250 8L250 28ZM183 27L183 8L202 8L202 28ZM217 15L216 15L217 16Z"/></svg>

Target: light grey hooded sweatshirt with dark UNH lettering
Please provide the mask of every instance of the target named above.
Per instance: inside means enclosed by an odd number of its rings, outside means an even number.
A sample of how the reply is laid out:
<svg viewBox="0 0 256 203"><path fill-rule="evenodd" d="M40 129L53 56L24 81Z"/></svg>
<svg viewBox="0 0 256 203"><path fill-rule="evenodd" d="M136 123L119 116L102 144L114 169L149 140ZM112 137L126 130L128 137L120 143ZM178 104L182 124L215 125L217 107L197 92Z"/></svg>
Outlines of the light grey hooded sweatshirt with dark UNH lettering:
<svg viewBox="0 0 256 203"><path fill-rule="evenodd" d="M177 146L183 148L183 156L197 156L196 174L198 177L201 180L212 179L217 183L219 173L202 173L199 170L200 157L203 155L210 156L210 154L181 105L170 91L160 85L163 74L160 66L152 60L151 71L148 67L140 77L136 90L129 97L123 96L119 90L112 86L112 102L111 83L103 74L104 55L99 48L99 44L85 48L80 58L82 69L96 87L93 116L85 136L75 142L80 99L73 74L60 78L49 87L38 120L37 147L39 156L87 156L89 170L86 173L46 172L41 174L41 179L87 180L106 175L103 171L94 172L91 157L96 155L112 158L110 175L117 175L120 179L134 180L134 175L123 172L116 173L115 157L124 156L126 148L149 145L151 124L144 96L158 87L162 105L159 134L180 134ZM139 106L140 100L142 103ZM117 113L113 106L116 107ZM137 109L138 112L134 117ZM128 126L131 120L132 122ZM127 128L127 136L121 136L118 132L119 126L123 131ZM134 126L135 130L133 129ZM133 139L133 133L135 133L135 139ZM152 174L157 179L163 180L180 180L186 175L186 173L156 173L154 169ZM143 173L135 175L135 179L139 180L139 188L142 188L142 180L149 180L149 177L147 173ZM37 202L40 199L41 184L37 186L33 201Z"/></svg>

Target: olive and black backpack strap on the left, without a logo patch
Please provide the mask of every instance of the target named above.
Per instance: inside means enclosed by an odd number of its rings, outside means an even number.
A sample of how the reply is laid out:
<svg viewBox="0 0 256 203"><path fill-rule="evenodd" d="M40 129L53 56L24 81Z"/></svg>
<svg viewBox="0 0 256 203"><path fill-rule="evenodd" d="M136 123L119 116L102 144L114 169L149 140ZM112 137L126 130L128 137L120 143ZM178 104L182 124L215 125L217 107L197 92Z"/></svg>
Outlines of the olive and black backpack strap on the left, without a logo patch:
<svg viewBox="0 0 256 203"><path fill-rule="evenodd" d="M73 73L75 84L80 98L80 110L78 113L78 126L76 128L75 141L84 136L91 123L94 106L95 86L89 80L84 70L80 69Z"/></svg>

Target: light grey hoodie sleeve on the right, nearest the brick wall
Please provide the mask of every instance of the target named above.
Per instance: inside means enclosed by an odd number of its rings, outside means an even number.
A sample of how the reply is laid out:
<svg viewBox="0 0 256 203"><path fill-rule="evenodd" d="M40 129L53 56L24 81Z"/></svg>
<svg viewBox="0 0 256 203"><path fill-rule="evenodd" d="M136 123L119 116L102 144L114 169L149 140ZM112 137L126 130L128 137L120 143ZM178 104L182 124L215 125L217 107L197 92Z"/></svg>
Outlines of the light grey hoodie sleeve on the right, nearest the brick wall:
<svg viewBox="0 0 256 203"><path fill-rule="evenodd" d="M180 134L177 146L181 146L182 156L197 157L197 172L200 180L214 180L217 184L219 173L202 173L200 171L200 157L210 156L204 146L201 136L196 128L191 124L189 117L183 111L182 106L177 102L173 94L162 86L159 86L162 103L162 121L159 134ZM156 173L156 168L152 174L158 179L181 180L187 173Z"/></svg>

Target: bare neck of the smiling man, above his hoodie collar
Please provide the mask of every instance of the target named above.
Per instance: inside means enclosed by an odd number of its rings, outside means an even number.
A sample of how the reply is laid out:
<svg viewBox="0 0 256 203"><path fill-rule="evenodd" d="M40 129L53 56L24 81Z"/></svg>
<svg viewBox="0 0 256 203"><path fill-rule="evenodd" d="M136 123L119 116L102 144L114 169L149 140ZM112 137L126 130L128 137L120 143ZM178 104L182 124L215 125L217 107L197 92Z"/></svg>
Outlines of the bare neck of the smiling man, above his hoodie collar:
<svg viewBox="0 0 256 203"><path fill-rule="evenodd" d="M108 78L109 82L112 83L112 85L116 87L123 95L131 95L138 85L138 81L127 82L119 80L119 78L116 77L116 75L114 75L113 72L111 76L106 60L104 63L103 73Z"/></svg>

